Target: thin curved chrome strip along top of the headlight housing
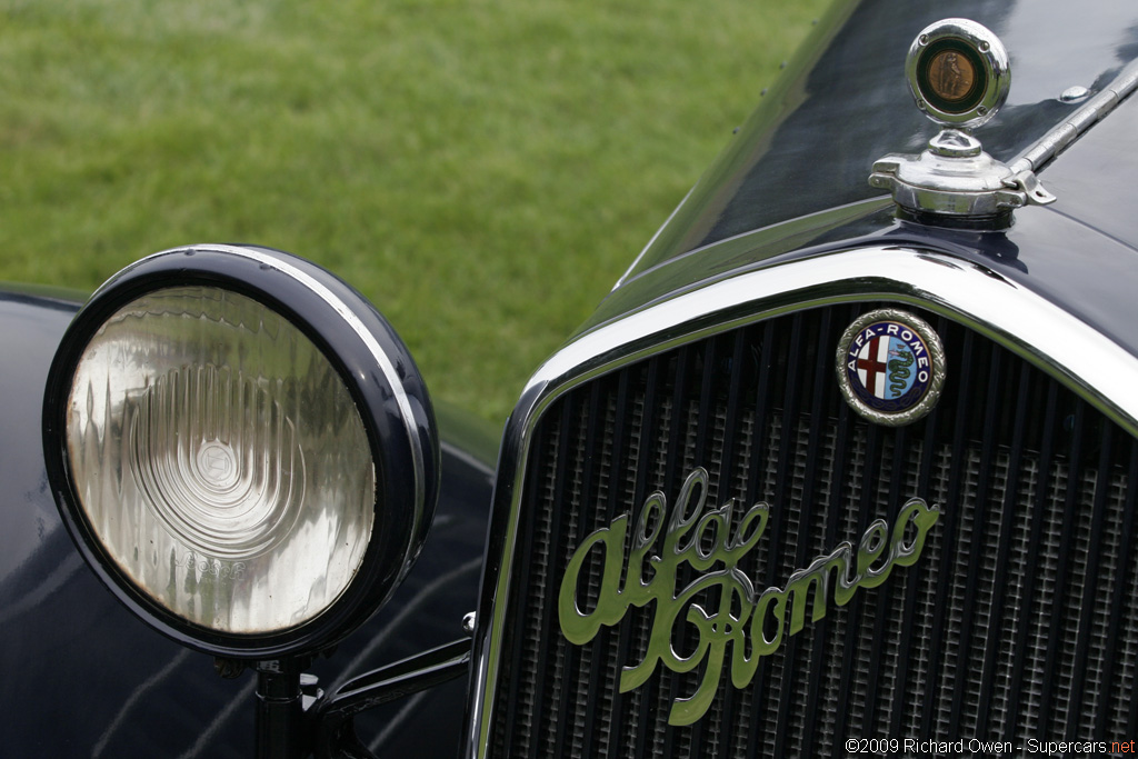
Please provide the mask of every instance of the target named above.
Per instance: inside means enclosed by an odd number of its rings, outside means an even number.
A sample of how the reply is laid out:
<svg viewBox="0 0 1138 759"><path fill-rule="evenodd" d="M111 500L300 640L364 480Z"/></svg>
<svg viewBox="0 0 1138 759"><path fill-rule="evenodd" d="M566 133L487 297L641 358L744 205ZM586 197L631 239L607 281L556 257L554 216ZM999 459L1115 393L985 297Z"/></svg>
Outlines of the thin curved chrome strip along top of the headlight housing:
<svg viewBox="0 0 1138 759"><path fill-rule="evenodd" d="M356 337L358 337L363 341L369 353L371 353L371 355L376 358L376 364L379 366L380 371L384 372L384 377L387 378L387 383L391 387L391 394L395 397L395 402L399 406L399 415L404 420L404 429L406 431L407 444L409 447L411 448L411 459L414 462L414 469L415 469L414 471L415 513L411 534L418 535L422 528L422 520L423 520L422 504L426 498L427 486L424 482L426 475L423 472L423 452L422 448L418 445L419 435L414 429L406 426L406 420L413 420L415 418L414 412L411 409L411 399L407 397L406 390L404 390L403 388L403 381L399 379L399 374L395 370L395 365L391 363L391 360L384 352L384 348L379 345L379 343L376 340L372 333L368 330L366 327L364 327L363 322L360 321L360 319L354 313L352 313L352 310L348 308L347 304L345 304L335 292L324 287L319 280L313 279L310 274L297 269L296 266L291 265L290 263L288 263L282 258L266 255L253 248L241 248L232 245L212 245L212 244L189 245L189 246L183 246L181 248L171 248L170 250L163 250L160 253L156 253L154 255L147 256L146 258L142 258L142 261L149 261L151 258L158 258L160 256L183 254L187 250L200 250L203 253L206 251L224 253L241 258L248 258L250 261L257 262L258 264L271 266L280 271L281 273L291 277L292 279L299 281L306 288L315 292L321 298L321 300L327 303L332 308L332 311L335 311L339 315L339 317L344 320L344 322L348 325L348 328L351 328L352 331L356 333ZM404 555L404 562L406 562L406 560L409 559L412 547L409 546L407 555Z"/></svg>

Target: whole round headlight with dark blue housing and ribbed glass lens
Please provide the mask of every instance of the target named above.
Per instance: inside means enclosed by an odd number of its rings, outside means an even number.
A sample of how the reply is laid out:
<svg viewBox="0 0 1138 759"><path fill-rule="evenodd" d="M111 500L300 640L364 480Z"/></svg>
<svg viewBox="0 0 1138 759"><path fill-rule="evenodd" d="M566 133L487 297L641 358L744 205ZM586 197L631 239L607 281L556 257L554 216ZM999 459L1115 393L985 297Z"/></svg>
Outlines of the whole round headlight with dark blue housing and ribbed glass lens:
<svg viewBox="0 0 1138 759"><path fill-rule="evenodd" d="M426 388L368 302L263 248L157 254L75 317L48 471L104 581L218 655L311 653L390 594L434 514Z"/></svg>

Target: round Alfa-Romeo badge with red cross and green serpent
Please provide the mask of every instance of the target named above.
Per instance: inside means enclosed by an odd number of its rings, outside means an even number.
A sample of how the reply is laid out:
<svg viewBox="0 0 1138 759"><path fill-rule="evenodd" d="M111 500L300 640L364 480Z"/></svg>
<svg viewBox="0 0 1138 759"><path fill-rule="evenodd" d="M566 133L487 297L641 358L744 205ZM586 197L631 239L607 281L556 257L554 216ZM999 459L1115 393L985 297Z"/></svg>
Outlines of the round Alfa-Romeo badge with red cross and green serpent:
<svg viewBox="0 0 1138 759"><path fill-rule="evenodd" d="M909 424L927 414L945 386L945 348L923 320L896 308L861 315L838 341L838 385L869 421Z"/></svg>

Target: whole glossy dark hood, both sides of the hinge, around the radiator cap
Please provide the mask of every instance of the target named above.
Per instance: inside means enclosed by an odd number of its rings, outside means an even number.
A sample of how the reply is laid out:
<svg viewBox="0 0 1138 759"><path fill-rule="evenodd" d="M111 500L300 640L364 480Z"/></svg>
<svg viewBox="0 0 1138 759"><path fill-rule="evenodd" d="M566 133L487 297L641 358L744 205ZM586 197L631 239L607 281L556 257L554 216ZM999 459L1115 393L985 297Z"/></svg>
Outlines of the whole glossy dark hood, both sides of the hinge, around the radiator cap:
<svg viewBox="0 0 1138 759"><path fill-rule="evenodd" d="M1058 201L1016 213L1011 230L962 233L900 222L869 187L874 160L920 152L937 127L913 102L904 67L926 25L967 17L1012 59L1007 105L976 135L1011 162L1138 57L1138 7L1055 0L839 3L613 292L578 333L741 271L861 245L930 247L970 258L1064 305L1138 354L1130 332L1138 218L1131 98L1040 178Z"/></svg>

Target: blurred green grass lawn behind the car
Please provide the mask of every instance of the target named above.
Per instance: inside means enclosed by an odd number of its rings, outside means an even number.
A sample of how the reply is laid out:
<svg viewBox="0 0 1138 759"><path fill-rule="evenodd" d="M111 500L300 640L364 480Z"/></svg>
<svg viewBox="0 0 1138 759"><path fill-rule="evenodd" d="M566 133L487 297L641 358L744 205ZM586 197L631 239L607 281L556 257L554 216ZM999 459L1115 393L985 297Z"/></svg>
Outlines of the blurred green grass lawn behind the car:
<svg viewBox="0 0 1138 759"><path fill-rule="evenodd" d="M0 280L282 248L501 422L822 5L0 0Z"/></svg>

